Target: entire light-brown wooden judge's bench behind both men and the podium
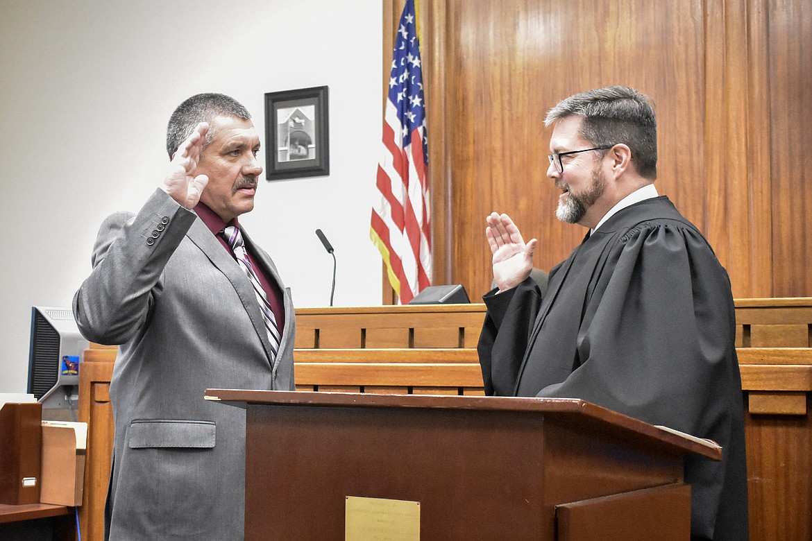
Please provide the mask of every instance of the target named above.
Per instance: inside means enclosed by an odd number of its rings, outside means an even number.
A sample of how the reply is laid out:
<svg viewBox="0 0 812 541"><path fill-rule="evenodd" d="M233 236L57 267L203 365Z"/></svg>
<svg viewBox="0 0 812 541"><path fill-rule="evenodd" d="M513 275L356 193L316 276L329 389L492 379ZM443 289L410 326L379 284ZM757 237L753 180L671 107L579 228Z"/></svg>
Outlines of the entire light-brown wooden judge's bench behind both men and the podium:
<svg viewBox="0 0 812 541"><path fill-rule="evenodd" d="M482 395L484 315L482 304L296 310L296 389ZM750 539L812 539L812 298L736 300L736 348ZM80 421L89 423L82 539L103 539L115 354L91 345L80 370Z"/></svg>

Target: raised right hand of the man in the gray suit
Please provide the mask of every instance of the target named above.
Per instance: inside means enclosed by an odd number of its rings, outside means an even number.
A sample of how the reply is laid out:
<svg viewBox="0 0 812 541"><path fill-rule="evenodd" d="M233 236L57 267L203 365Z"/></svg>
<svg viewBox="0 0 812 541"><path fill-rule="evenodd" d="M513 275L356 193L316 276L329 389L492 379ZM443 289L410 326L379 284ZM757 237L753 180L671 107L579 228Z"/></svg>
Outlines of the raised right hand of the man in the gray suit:
<svg viewBox="0 0 812 541"><path fill-rule="evenodd" d="M205 136L209 133L209 124L201 122L189 138L180 144L172 161L161 189L184 208L195 208L201 194L209 183L205 174L196 174L197 162L205 145Z"/></svg>

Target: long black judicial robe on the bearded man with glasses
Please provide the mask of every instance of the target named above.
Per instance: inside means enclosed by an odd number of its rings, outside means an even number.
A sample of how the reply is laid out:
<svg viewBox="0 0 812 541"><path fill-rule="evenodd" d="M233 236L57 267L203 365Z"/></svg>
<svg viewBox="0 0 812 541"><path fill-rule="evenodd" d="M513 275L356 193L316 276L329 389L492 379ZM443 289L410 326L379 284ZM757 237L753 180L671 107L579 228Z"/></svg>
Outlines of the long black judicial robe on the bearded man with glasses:
<svg viewBox="0 0 812 541"><path fill-rule="evenodd" d="M607 220L551 270L484 297L486 394L581 398L715 440L692 458L694 539L747 539L741 376L728 274L667 197Z"/></svg>

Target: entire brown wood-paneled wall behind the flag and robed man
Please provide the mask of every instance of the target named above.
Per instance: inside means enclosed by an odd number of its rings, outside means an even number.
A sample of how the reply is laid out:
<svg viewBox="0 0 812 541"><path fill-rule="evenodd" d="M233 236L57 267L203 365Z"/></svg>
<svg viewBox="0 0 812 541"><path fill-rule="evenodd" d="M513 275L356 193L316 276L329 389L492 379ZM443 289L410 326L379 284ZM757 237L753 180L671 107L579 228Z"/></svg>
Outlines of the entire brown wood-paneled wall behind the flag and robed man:
<svg viewBox="0 0 812 541"><path fill-rule="evenodd" d="M384 0L383 71L403 0ZM490 289L485 217L539 239L536 266L585 234L555 218L546 110L633 86L654 100L656 187L711 241L736 297L812 296L812 4L806 0L420 0L434 284Z"/></svg>

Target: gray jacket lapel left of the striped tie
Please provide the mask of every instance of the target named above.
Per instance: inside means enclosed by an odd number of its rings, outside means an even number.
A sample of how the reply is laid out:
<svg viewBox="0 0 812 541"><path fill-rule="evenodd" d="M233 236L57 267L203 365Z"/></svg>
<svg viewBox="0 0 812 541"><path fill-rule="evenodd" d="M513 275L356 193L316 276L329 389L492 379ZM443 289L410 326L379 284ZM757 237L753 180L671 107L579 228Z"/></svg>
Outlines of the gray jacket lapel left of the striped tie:
<svg viewBox="0 0 812 541"><path fill-rule="evenodd" d="M186 236L201 249L205 256L209 258L211 264L217 267L220 272L227 277L228 281L231 282L231 286L234 287L237 296L240 297L240 301L243 303L245 311L248 313L248 318L250 318L253 324L254 332L257 333L257 337L259 337L262 346L265 348L268 363L270 363L270 342L266 334L265 322L262 320L262 315L259 311L259 303L257 303L251 282L248 281L243 269L240 268L240 265L228 254L218 239L214 238L214 235L201 219L198 218L195 220Z"/></svg>

